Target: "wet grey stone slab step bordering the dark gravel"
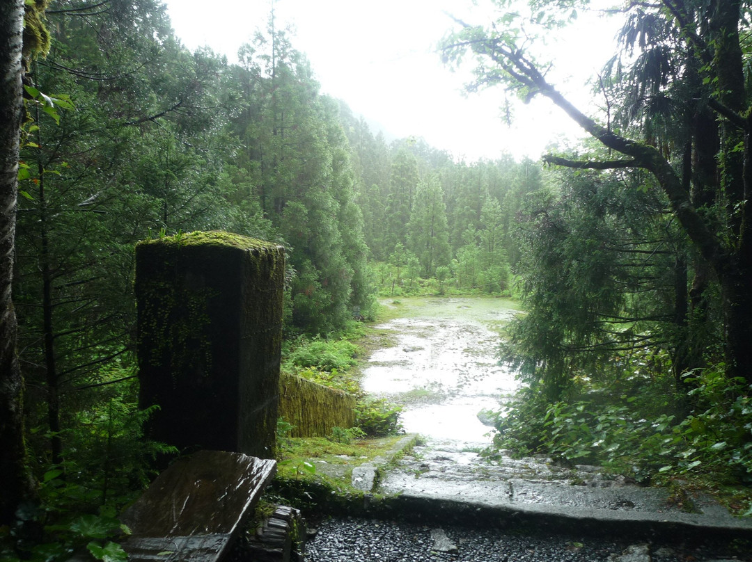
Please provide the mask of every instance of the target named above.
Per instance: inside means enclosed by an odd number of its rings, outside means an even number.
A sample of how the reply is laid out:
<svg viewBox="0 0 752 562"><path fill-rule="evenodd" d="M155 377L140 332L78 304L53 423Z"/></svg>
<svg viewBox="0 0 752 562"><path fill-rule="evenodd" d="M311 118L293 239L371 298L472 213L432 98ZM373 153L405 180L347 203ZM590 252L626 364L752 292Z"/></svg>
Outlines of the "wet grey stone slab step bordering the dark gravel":
<svg viewBox="0 0 752 562"><path fill-rule="evenodd" d="M559 530L716 533L752 539L752 518L735 518L708 494L672 497L606 476L597 467L557 467L550 459L508 456L490 463L461 444L415 446L383 470L378 492L420 518L453 516L491 524L526 521ZM478 521L480 522L480 521Z"/></svg>

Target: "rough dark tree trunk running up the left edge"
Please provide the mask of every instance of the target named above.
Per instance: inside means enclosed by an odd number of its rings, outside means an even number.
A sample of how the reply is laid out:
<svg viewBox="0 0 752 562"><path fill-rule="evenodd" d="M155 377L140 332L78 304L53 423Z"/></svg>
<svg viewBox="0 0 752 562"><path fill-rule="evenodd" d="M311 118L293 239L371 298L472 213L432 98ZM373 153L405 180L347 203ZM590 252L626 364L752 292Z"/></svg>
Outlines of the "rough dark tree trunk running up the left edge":
<svg viewBox="0 0 752 562"><path fill-rule="evenodd" d="M23 116L23 0L0 2L0 525L14 521L32 489L23 441L23 379L11 300L20 125Z"/></svg>

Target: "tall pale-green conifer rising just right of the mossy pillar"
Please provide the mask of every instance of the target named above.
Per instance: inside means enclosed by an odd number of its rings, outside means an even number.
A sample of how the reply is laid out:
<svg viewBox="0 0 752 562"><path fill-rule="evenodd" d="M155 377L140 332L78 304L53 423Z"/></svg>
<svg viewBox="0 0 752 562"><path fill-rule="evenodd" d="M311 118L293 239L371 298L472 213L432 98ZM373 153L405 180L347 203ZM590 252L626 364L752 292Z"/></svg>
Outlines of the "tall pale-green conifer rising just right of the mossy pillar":
<svg viewBox="0 0 752 562"><path fill-rule="evenodd" d="M362 215L347 137L335 102L319 94L305 56L286 32L258 33L237 74L247 107L235 119L238 171L247 197L289 248L296 329L341 328L352 307L370 307ZM255 189L254 187L255 186Z"/></svg>

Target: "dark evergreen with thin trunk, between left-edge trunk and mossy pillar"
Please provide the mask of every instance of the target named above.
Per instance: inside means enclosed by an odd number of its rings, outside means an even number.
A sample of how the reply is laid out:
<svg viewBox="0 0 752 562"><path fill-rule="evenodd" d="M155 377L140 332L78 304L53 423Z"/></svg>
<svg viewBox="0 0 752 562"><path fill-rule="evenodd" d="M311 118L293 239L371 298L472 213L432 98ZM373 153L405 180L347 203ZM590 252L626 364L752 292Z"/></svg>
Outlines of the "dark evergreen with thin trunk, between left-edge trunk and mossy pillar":
<svg viewBox="0 0 752 562"><path fill-rule="evenodd" d="M42 91L67 94L58 107L73 99L77 109L29 113L15 291L38 397L29 412L47 419L58 464L86 389L133 376L135 242L216 228L226 214L215 189L226 64L183 50L151 0L104 11L70 2L48 16L56 33L34 77Z"/></svg>

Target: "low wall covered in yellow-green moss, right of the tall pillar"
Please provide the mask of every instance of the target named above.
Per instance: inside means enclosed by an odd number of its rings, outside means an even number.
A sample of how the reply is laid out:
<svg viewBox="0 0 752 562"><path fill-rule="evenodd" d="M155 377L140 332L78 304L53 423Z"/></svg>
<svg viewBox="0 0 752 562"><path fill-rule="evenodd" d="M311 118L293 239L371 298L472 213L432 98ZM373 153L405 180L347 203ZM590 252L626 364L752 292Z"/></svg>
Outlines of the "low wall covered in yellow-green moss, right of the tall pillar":
<svg viewBox="0 0 752 562"><path fill-rule="evenodd" d="M326 437L355 425L355 397L299 376L280 376L279 415L294 426L290 437Z"/></svg>

